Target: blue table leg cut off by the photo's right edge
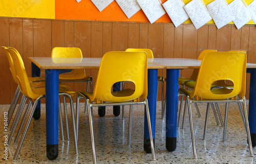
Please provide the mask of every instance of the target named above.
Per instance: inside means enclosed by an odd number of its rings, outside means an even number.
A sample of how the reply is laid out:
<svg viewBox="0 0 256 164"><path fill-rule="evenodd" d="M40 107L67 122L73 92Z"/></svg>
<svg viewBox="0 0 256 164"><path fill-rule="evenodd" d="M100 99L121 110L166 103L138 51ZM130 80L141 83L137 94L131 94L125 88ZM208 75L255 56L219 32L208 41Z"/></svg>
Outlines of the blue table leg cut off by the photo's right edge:
<svg viewBox="0 0 256 164"><path fill-rule="evenodd" d="M251 134L251 144L254 147L256 146L256 69L251 69L250 73L248 122Z"/></svg>

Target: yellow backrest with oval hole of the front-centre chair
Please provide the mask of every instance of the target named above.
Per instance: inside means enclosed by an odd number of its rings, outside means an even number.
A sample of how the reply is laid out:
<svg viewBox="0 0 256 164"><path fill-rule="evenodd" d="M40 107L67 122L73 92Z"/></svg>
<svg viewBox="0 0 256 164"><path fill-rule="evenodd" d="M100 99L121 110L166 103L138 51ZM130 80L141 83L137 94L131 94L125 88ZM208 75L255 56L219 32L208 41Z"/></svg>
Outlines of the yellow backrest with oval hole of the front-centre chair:
<svg viewBox="0 0 256 164"><path fill-rule="evenodd" d="M110 78L111 77L111 78ZM132 95L116 97L112 86L119 81L131 81L135 85ZM110 51L102 57L92 101L122 102L147 97L147 55L145 52Z"/></svg>

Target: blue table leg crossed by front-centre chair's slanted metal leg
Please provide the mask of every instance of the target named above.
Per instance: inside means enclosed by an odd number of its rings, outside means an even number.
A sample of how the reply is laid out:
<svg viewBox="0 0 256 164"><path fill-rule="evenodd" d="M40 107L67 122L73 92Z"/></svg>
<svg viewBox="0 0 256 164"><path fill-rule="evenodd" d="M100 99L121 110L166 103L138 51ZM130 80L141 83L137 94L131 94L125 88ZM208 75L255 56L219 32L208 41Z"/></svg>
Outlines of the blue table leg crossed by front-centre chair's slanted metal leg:
<svg viewBox="0 0 256 164"><path fill-rule="evenodd" d="M157 108L157 69L147 70L147 100L150 110L150 120L153 134L153 142L155 145L156 131L156 108ZM144 150L146 153L151 153L150 134L148 133L146 112L144 117Z"/></svg>

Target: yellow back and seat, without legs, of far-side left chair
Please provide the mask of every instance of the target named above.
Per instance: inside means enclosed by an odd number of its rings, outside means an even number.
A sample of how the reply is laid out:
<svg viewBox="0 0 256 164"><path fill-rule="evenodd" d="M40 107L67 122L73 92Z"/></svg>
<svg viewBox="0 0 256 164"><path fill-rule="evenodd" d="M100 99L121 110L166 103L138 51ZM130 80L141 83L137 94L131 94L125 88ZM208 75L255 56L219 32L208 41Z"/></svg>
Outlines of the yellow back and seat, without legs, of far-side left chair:
<svg viewBox="0 0 256 164"><path fill-rule="evenodd" d="M77 47L54 47L52 49L52 58L82 58L82 51ZM86 78L84 69L75 69L71 75L59 75L61 79L79 80Z"/></svg>

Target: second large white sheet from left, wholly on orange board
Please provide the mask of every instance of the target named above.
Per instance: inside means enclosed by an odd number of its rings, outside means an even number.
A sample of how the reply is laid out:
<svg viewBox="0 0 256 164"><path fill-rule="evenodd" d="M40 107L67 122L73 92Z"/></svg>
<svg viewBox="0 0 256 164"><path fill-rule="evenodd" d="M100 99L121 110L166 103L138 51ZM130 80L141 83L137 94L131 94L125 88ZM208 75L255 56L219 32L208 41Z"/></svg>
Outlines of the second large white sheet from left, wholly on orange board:
<svg viewBox="0 0 256 164"><path fill-rule="evenodd" d="M140 10L136 0L116 0L116 2L128 18L131 18Z"/></svg>

